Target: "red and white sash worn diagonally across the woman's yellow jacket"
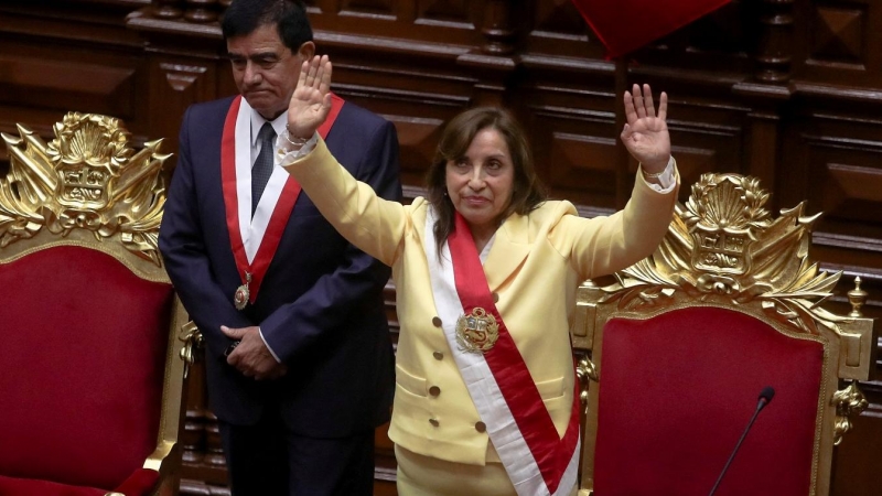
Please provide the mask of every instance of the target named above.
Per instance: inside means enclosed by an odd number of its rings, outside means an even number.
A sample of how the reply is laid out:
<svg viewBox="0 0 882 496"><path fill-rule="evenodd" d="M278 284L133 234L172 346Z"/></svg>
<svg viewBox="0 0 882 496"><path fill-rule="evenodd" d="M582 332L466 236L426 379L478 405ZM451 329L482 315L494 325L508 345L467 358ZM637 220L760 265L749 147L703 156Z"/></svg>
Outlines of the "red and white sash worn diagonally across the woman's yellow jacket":
<svg viewBox="0 0 882 496"><path fill-rule="evenodd" d="M579 465L579 395L574 395L570 422L560 439L496 309L483 260L465 220L456 214L456 226L442 247L441 260L434 242L434 223L430 207L424 248L435 310L499 460L519 496L568 495L576 486ZM488 248L482 257L486 257ZM492 313L499 324L496 344L483 354L463 352L456 343L458 319L476 306Z"/></svg>

